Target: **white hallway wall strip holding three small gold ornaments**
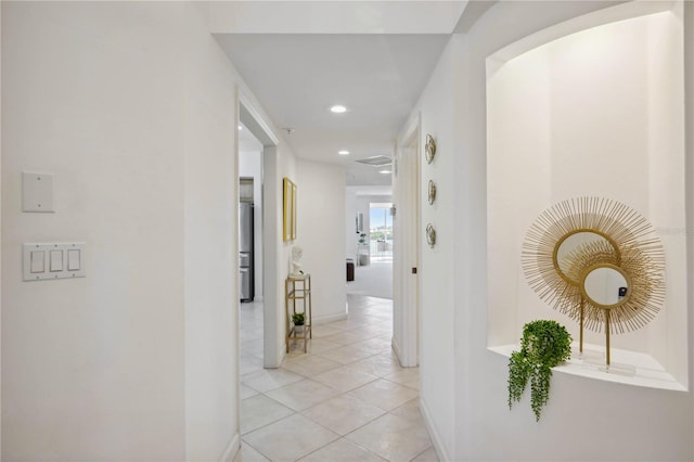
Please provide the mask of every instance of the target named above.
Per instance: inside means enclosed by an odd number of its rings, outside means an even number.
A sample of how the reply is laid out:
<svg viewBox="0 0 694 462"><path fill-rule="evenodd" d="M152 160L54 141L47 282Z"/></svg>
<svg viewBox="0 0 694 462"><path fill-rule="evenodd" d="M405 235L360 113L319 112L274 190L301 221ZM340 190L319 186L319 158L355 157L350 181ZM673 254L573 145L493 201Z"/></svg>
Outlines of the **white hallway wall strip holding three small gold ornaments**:
<svg viewBox="0 0 694 462"><path fill-rule="evenodd" d="M453 460L454 450L454 351L455 332L453 304L453 265L458 232L453 228L457 206L453 189L458 179L453 176L453 162L461 155L455 143L457 116L453 95L459 64L455 46L449 42L433 69L412 116L421 117L419 140L420 170L420 230L421 248L417 274L420 278L419 345L420 399L422 412L436 440L441 460ZM409 126L410 124L406 124ZM425 161L426 134L436 141L436 156ZM394 181L398 181L395 176ZM437 198L428 204L428 181L437 187ZM402 180L400 180L402 181ZM395 190L396 188L394 188ZM425 229L430 223L436 230L436 245L429 246ZM398 236L396 236L398 239Z"/></svg>

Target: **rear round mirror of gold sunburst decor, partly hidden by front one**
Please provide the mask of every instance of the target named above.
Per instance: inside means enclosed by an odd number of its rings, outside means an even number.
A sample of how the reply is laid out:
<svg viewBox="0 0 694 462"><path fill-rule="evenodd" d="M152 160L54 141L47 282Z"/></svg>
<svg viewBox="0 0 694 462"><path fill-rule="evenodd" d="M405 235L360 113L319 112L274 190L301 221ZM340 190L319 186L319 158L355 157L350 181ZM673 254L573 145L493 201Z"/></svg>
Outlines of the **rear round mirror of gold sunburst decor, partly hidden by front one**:
<svg viewBox="0 0 694 462"><path fill-rule="evenodd" d="M607 248L614 252L615 256L619 252L611 240L593 230L577 230L567 233L556 242L554 247L554 268L562 278L578 285L580 284L578 274L573 274L570 271L575 260L580 254L588 253L590 249L594 253L597 248Z"/></svg>

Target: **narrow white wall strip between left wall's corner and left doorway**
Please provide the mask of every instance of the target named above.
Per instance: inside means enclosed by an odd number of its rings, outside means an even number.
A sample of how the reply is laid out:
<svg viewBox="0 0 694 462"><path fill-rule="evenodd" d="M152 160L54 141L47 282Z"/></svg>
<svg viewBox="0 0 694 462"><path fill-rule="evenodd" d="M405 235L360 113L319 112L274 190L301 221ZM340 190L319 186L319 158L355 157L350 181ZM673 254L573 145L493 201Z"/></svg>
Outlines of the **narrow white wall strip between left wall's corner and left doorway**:
<svg viewBox="0 0 694 462"><path fill-rule="evenodd" d="M182 4L185 459L221 460L240 444L237 75Z"/></svg>

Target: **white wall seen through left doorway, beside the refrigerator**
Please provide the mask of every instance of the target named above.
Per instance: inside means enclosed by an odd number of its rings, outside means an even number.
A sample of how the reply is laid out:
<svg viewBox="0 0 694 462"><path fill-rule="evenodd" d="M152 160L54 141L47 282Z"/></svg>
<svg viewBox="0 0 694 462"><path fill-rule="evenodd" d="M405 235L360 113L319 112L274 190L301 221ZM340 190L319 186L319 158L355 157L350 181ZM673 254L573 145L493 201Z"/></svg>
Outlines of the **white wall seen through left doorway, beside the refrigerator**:
<svg viewBox="0 0 694 462"><path fill-rule="evenodd" d="M259 144L259 143L258 143ZM262 149L262 145L260 145ZM253 178L255 300L262 300L262 151L239 152L239 176Z"/></svg>

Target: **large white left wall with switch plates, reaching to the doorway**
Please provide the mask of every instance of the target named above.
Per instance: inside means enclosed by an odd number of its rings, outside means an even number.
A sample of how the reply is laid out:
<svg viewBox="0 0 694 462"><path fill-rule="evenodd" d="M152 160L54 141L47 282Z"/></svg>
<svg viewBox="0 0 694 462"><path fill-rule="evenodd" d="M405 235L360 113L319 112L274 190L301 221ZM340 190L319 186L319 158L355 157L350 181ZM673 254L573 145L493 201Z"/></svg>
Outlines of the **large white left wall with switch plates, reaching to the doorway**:
<svg viewBox="0 0 694 462"><path fill-rule="evenodd" d="M183 3L2 21L2 458L219 460L239 432L235 74ZM55 214L21 211L25 169L55 174ZM22 243L72 240L85 279L21 281Z"/></svg>

